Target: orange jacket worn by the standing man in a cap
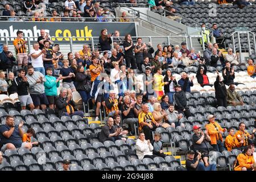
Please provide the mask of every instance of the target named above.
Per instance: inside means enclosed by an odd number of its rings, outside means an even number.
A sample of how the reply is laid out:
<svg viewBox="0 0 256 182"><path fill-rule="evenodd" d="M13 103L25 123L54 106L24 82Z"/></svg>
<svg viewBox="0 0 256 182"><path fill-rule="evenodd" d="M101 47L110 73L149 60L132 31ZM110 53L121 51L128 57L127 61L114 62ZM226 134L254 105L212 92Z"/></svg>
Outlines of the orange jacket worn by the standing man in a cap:
<svg viewBox="0 0 256 182"><path fill-rule="evenodd" d="M214 126L215 125L215 126ZM210 136L210 144L217 144L217 140L223 141L222 136L218 131L224 132L225 130L214 121L214 123L208 123L205 125L205 129L208 130L208 135Z"/></svg>

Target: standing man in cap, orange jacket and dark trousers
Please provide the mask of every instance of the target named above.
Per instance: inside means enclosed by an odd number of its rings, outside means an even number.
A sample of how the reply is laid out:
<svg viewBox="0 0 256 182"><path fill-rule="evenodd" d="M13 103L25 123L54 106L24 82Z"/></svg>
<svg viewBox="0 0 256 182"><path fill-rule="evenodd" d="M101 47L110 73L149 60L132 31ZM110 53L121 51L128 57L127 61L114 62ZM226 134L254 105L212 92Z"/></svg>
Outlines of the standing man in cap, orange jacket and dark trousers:
<svg viewBox="0 0 256 182"><path fill-rule="evenodd" d="M205 125L205 129L207 129L210 136L210 145L213 147L214 151L222 152L224 151L222 134L226 129L222 129L222 127L215 121L214 115L208 115L207 119L209 120L209 123Z"/></svg>

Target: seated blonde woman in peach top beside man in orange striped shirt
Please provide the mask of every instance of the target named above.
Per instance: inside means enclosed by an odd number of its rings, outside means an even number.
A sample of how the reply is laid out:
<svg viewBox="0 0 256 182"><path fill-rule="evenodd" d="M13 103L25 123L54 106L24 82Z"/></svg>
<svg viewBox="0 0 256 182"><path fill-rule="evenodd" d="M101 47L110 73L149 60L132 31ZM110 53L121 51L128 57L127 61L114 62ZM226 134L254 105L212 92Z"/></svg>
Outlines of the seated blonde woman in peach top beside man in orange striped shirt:
<svg viewBox="0 0 256 182"><path fill-rule="evenodd" d="M154 108L154 111L152 112L152 115L155 119L155 122L156 122L156 127L164 127L165 129L171 125L169 125L168 123L164 122L164 118L167 117L167 113L166 111L162 110L162 107L160 105L159 102L156 102L154 105L153 105L153 108Z"/></svg>

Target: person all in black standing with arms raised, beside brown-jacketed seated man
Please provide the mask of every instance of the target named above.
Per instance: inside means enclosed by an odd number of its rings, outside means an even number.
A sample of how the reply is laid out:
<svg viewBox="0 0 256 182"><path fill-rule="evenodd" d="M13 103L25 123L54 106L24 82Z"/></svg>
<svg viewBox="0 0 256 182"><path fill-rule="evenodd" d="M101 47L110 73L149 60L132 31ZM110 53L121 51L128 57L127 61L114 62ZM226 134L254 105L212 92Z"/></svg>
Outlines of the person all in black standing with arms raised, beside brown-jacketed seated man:
<svg viewBox="0 0 256 182"><path fill-rule="evenodd" d="M226 91L226 86L222 81L222 78L220 77L218 71L216 72L217 72L217 78L216 78L216 81L214 82L215 97L217 99L218 106L226 107L228 106L226 101L226 96L228 95Z"/></svg>

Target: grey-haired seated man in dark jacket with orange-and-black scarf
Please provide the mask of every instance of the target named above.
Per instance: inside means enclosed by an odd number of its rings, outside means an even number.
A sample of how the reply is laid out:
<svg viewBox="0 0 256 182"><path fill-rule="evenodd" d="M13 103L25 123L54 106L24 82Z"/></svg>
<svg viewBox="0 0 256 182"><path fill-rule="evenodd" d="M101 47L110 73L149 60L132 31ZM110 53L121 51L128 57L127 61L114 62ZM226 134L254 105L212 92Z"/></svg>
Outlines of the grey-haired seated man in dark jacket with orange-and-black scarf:
<svg viewBox="0 0 256 182"><path fill-rule="evenodd" d="M56 113L61 117L67 115L72 117L73 115L80 115L84 117L84 112L75 109L75 103L71 100L72 94L68 93L66 88L60 90L60 96L56 98Z"/></svg>

